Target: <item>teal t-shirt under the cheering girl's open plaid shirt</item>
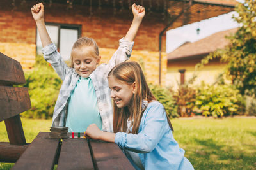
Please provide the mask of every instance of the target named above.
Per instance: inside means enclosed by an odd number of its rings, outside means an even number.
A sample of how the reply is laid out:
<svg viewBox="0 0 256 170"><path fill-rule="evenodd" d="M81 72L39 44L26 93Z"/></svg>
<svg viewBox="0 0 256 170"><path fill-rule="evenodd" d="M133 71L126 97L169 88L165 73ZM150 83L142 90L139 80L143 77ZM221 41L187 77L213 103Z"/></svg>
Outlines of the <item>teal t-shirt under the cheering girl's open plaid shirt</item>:
<svg viewBox="0 0 256 170"><path fill-rule="evenodd" d="M68 132L85 132L90 124L102 129L97 97L90 78L79 78L68 99Z"/></svg>

